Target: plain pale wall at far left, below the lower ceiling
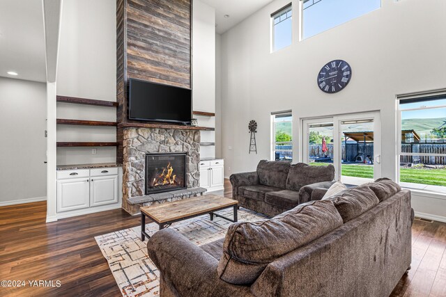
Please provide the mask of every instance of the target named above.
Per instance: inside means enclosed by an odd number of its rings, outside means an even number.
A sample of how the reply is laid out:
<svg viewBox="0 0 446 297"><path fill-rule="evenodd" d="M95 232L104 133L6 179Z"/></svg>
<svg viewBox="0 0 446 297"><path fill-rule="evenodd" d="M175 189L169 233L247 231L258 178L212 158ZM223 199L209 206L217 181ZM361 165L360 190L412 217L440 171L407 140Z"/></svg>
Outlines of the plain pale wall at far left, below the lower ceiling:
<svg viewBox="0 0 446 297"><path fill-rule="evenodd" d="M0 77L0 206L46 199L46 83Z"/></svg>

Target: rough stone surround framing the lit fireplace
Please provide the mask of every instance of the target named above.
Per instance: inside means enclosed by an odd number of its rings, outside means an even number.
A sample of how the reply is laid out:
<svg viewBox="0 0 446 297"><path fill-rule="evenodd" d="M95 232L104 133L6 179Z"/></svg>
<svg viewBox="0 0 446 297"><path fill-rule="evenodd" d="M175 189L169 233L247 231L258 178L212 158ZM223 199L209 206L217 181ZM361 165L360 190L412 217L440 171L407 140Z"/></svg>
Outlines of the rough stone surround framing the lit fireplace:
<svg viewBox="0 0 446 297"><path fill-rule="evenodd" d="M146 192L146 154L157 152L185 152L187 188L199 186L200 131L126 128L123 130L123 209L129 214L139 213L139 205L128 203L128 198L143 196Z"/></svg>

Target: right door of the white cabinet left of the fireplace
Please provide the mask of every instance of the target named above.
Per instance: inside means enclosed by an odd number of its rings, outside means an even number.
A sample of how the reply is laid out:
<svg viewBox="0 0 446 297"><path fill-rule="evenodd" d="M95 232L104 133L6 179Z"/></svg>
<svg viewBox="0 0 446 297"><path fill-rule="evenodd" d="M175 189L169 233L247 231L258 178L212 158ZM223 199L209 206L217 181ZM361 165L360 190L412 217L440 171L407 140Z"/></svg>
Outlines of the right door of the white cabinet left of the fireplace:
<svg viewBox="0 0 446 297"><path fill-rule="evenodd" d="M91 178L91 206L118 202L118 175Z"/></svg>

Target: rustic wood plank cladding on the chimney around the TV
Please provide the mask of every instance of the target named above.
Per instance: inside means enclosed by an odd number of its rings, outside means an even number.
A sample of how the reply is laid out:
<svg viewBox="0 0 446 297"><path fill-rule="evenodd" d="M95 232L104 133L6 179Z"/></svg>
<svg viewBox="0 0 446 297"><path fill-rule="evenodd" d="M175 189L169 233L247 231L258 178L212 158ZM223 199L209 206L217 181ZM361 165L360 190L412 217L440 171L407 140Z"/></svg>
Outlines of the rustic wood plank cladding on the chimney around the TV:
<svg viewBox="0 0 446 297"><path fill-rule="evenodd" d="M192 88L192 0L116 0L116 39L118 123L138 122L128 120L130 78Z"/></svg>

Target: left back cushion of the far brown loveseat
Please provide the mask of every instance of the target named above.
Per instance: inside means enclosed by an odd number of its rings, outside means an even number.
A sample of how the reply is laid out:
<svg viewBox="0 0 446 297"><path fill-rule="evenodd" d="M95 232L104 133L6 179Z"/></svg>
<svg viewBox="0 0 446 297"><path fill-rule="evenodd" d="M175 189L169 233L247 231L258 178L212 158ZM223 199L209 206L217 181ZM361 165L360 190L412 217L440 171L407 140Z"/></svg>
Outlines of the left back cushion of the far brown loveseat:
<svg viewBox="0 0 446 297"><path fill-rule="evenodd" d="M259 183L265 186L285 188L286 177L290 169L289 161L266 161L261 160L257 165Z"/></svg>

